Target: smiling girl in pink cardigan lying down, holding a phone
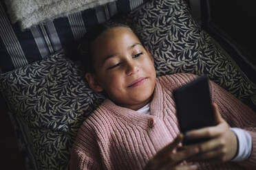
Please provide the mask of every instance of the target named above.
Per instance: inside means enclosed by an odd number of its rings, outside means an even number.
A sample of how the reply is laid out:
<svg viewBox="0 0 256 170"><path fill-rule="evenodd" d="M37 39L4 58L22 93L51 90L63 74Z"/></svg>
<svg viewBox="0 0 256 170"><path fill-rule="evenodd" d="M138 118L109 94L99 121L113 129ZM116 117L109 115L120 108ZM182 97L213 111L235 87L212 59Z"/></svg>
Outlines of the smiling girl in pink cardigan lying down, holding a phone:
<svg viewBox="0 0 256 170"><path fill-rule="evenodd" d="M104 91L108 99L81 125L70 169L256 167L256 114L241 101L210 82L216 125L186 134L210 139L180 147L183 136L172 91L196 76L156 78L153 57L127 25L100 24L85 40L85 77L90 88Z"/></svg>

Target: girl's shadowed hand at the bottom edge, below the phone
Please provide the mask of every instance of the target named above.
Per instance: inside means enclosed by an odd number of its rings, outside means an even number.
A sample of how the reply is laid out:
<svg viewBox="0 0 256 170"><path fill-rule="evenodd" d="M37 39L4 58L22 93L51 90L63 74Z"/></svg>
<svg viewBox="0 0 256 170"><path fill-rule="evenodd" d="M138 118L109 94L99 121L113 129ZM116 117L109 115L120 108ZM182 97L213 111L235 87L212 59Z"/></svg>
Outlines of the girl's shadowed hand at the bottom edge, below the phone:
<svg viewBox="0 0 256 170"><path fill-rule="evenodd" d="M178 147L178 144L182 141L183 135L179 134L172 143L161 149L156 156L151 158L147 163L145 170L193 170L197 169L196 165L178 165L183 160L191 158L195 154L198 154L198 147L189 147L188 149L182 149L173 153L173 149Z"/></svg>

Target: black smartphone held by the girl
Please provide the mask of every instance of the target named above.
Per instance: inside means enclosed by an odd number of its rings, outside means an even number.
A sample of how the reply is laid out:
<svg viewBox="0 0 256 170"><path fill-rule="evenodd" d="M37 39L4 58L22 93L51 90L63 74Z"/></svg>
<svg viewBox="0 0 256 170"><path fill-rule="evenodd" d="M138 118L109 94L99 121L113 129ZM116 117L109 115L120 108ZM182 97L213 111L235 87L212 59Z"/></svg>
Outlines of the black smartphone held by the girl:
<svg viewBox="0 0 256 170"><path fill-rule="evenodd" d="M189 130L215 125L207 75L201 75L188 84L173 90L173 97L180 131L183 134ZM206 140L207 138L189 140L185 136L183 144L190 145Z"/></svg>

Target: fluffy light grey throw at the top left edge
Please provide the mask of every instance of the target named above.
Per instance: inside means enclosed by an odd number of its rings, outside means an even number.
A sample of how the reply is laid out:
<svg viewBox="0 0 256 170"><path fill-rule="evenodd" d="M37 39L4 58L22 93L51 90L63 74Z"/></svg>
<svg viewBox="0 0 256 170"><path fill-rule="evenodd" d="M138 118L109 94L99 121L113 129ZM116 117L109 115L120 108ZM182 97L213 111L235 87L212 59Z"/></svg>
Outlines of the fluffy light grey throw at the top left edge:
<svg viewBox="0 0 256 170"><path fill-rule="evenodd" d="M116 0L5 0L12 23L21 29Z"/></svg>

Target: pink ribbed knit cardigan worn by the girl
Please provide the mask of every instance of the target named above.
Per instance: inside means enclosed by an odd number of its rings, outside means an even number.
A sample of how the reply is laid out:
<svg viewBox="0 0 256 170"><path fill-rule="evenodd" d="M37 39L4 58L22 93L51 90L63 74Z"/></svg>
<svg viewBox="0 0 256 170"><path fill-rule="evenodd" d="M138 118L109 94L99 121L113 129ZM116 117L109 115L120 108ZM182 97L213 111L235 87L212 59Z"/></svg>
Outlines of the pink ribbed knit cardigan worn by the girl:
<svg viewBox="0 0 256 170"><path fill-rule="evenodd" d="M78 132L70 169L143 169L147 161L179 134L172 92L195 78L179 73L157 78L151 115L116 106L106 99ZM253 151L244 162L197 163L200 169L256 169L256 114L217 84L210 82L212 101L231 127L248 130ZM246 167L246 168L244 168Z"/></svg>

